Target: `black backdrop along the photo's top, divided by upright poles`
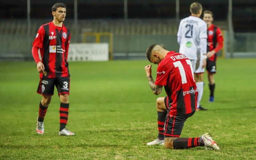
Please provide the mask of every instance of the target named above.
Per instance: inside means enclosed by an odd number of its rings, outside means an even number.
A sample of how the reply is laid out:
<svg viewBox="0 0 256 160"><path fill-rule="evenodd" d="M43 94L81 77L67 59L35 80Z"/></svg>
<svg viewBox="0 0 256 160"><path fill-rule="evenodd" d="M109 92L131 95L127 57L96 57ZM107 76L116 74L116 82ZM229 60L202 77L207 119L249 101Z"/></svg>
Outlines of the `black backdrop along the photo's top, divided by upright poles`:
<svg viewBox="0 0 256 160"><path fill-rule="evenodd" d="M52 5L67 5L67 18L74 18L72 0L30 0L31 19L51 18ZM123 0L77 0L78 19L120 19L124 17ZM194 0L180 0L180 19L187 17ZM204 10L214 13L214 20L227 20L228 0L197 0ZM0 19L26 19L27 0L1 0ZM128 18L175 18L175 0L128 0ZM233 24L235 32L255 32L256 0L233 0Z"/></svg>

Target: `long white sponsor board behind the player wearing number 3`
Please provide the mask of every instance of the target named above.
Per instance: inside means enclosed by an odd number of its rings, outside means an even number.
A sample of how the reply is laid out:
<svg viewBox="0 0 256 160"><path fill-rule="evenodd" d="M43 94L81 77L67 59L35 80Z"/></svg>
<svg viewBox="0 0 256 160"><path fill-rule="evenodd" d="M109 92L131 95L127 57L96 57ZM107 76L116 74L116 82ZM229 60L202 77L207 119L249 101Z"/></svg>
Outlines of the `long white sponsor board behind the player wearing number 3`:
<svg viewBox="0 0 256 160"><path fill-rule="evenodd" d="M68 61L108 61L108 43L69 44Z"/></svg>

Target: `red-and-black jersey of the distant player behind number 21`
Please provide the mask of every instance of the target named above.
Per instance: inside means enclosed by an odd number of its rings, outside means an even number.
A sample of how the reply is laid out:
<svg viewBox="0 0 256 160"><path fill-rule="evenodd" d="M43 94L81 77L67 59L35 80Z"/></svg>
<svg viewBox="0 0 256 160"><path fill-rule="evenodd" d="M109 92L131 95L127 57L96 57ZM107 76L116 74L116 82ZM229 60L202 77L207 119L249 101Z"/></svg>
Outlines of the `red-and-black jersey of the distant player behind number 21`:
<svg viewBox="0 0 256 160"><path fill-rule="evenodd" d="M221 33L220 28L217 26L214 26L213 24L207 29L208 33L208 43L207 43L207 52L215 50L215 52L219 52L223 46L223 36ZM216 44L218 46L216 47ZM217 56L214 54L212 57L209 58L209 60L216 60Z"/></svg>

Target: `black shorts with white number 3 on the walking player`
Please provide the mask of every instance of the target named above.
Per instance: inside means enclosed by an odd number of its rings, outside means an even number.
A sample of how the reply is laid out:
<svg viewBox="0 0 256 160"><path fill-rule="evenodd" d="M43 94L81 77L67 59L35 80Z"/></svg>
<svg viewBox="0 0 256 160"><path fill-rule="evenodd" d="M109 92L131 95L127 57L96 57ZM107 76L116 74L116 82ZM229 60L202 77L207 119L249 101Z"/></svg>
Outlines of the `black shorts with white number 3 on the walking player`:
<svg viewBox="0 0 256 160"><path fill-rule="evenodd" d="M59 95L69 95L70 77L56 77L56 78L40 78L40 82L37 88L37 93L42 95L53 95L54 85L56 86Z"/></svg>

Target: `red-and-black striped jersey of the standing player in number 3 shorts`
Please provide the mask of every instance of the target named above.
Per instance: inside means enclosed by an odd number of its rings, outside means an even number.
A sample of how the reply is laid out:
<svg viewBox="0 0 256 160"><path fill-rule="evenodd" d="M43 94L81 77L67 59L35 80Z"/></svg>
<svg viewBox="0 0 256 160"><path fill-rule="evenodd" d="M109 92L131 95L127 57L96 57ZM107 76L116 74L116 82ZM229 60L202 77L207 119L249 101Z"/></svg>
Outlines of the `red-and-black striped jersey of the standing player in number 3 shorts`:
<svg viewBox="0 0 256 160"><path fill-rule="evenodd" d="M70 30L64 24L56 27L53 21L39 28L32 45L40 48L45 67L45 73L40 73L40 78L70 76L67 62L70 36Z"/></svg>

